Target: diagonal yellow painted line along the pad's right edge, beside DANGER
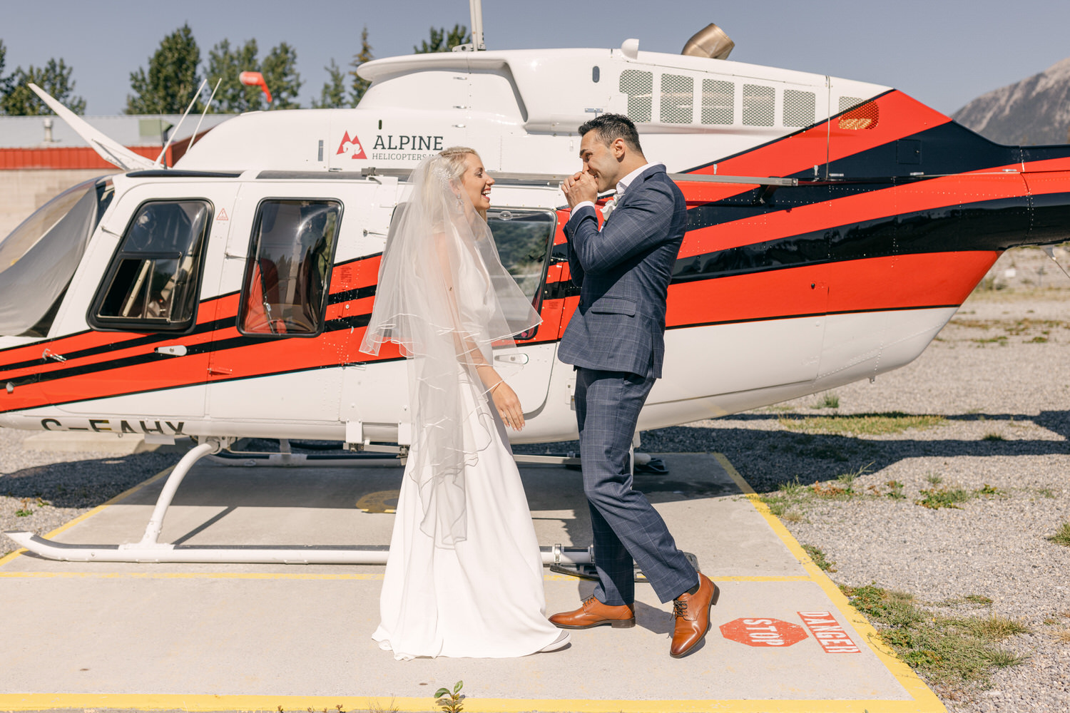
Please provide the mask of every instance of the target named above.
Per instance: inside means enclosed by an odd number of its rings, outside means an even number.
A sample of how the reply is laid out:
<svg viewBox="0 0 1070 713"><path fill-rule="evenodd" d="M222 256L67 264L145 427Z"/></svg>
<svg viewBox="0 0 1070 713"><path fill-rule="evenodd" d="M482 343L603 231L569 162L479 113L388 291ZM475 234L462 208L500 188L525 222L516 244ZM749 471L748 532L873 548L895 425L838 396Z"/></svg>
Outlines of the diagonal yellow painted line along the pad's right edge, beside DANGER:
<svg viewBox="0 0 1070 713"><path fill-rule="evenodd" d="M806 551L802 549L802 545L799 544L798 540L788 531L783 523L769 511L769 507L762 501L761 496L754 492L754 489L750 486L739 471L735 469L735 466L724 456L723 453L714 453L714 458L717 462L721 464L724 471L729 474L729 477L735 481L735 484L739 487L743 494L750 500L750 503L754 506L765 522L768 523L773 531L777 533L777 537L786 545L789 552L802 564L802 569L806 570L810 578L821 587L822 591L832 601L832 605L836 606L851 622L851 625L855 627L862 637L866 638L866 642L870 650L876 654L881 663L891 672L899 684L906 689L906 692L914 697L917 703L924 706L924 710L933 711L947 711L944 703L941 702L936 694L924 684L924 682L918 678L918 675L884 642L881 635L877 633L873 625L863 617L858 609L851 606L847 598L840 591L840 588L835 582L828 578L828 576L821 570L820 567L814 564L813 559L810 558ZM881 701L881 710L885 710L886 702ZM778 709L779 710L779 709ZM917 709L912 709L917 710Z"/></svg>

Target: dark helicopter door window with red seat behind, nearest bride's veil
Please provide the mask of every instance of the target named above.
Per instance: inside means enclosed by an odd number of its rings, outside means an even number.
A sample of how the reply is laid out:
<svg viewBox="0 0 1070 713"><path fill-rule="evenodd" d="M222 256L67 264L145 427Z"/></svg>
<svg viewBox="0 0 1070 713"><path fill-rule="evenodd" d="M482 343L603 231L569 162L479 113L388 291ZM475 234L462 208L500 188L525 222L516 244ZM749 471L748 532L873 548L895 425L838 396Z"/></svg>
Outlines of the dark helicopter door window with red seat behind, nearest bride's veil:
<svg viewBox="0 0 1070 713"><path fill-rule="evenodd" d="M239 331L315 337L323 330L341 203L266 200L253 228Z"/></svg>

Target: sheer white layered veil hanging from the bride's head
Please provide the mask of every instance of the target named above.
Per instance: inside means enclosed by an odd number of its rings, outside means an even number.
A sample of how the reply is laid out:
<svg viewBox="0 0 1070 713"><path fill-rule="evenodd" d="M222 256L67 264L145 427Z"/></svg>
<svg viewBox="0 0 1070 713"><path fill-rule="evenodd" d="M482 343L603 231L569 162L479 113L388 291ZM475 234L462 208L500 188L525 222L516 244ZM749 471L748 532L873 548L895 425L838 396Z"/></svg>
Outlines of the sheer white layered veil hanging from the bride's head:
<svg viewBox="0 0 1070 713"><path fill-rule="evenodd" d="M463 170L441 154L412 173L379 267L361 351L396 342L409 357L413 444L407 476L419 486L421 530L439 546L465 539L464 469L496 429L493 409L469 412L460 389L488 390L477 367L505 374L493 353L541 320L502 266L487 222L462 183ZM488 385L490 387L494 384ZM480 398L485 398L482 397Z"/></svg>

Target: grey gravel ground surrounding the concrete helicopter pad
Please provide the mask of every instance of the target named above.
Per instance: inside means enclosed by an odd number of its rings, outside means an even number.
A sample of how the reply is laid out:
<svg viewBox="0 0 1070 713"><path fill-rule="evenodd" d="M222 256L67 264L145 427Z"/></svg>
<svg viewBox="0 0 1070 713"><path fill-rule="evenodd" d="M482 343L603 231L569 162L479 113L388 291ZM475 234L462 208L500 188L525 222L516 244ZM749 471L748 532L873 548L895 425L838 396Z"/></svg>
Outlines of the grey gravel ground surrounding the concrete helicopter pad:
<svg viewBox="0 0 1070 713"><path fill-rule="evenodd" d="M1066 251L1056 257L1070 262ZM902 499L813 500L784 524L836 563L830 576L840 584L875 583L922 602L987 596L991 611L1030 629L1004 642L1028 657L996 670L990 687L936 687L951 711L1066 713L1070 640L1058 634L1070 632L1070 547L1046 537L1070 522L1070 279L1040 250L1021 249L1000 258L982 284L914 363L836 389L838 408L817 407L826 394L816 394L647 432L643 450L721 451L760 493L860 470L857 491L903 483ZM946 418L858 437L784 425L888 412ZM180 458L27 451L26 435L0 429L0 530L48 532ZM915 505L936 478L941 486L996 493L959 509ZM0 541L0 553L9 547Z"/></svg>

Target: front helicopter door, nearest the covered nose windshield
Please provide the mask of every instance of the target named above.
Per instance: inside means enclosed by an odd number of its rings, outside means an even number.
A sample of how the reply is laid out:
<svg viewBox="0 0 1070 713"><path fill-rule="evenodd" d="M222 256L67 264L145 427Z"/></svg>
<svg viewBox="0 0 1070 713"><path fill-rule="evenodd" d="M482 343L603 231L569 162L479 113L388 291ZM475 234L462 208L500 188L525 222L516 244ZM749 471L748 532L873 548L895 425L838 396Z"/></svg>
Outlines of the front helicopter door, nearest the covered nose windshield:
<svg viewBox="0 0 1070 713"><path fill-rule="evenodd" d="M211 310L199 296L227 192L154 183L116 199L71 283L71 308L62 308L71 315L64 331L89 329L54 350L70 376L45 388L61 409L121 421L105 428L94 420L94 430L165 435L203 416L208 355L197 345ZM73 321L81 315L86 323Z"/></svg>

